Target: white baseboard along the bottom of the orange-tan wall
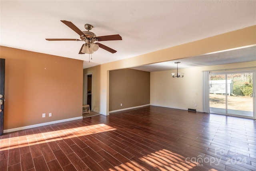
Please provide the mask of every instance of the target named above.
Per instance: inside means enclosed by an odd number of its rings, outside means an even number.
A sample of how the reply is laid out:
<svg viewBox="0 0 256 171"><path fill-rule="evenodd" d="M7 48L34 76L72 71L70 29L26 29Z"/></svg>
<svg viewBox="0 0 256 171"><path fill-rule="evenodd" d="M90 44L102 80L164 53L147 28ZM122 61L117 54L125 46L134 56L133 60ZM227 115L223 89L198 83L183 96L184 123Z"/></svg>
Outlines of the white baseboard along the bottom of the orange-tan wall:
<svg viewBox="0 0 256 171"><path fill-rule="evenodd" d="M46 125L51 125L51 124L58 124L58 123L61 123L61 122L67 122L67 121L77 120L77 119L82 119L82 118L83 118L83 116L79 116L79 117L76 117L76 118L69 118L69 119L63 119L63 120L56 120L56 121L52 121L52 122L45 122L45 123L42 123L42 124L35 124L35 125L29 125L29 126L22 126L22 127L19 127L19 128L12 128L12 129L8 129L8 130L4 130L4 133L15 132L15 131L20 131L20 130L26 130L26 129L29 129L29 128L36 128L36 127L39 127L39 126L46 126Z"/></svg>

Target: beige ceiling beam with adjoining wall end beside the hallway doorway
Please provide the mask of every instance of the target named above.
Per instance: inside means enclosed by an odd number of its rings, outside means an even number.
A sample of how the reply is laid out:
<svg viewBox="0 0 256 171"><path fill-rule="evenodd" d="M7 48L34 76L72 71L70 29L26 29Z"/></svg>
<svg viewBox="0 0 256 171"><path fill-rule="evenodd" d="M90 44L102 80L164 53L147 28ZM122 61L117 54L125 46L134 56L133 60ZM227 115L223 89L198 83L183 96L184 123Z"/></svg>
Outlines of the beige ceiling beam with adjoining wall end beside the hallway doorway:
<svg viewBox="0 0 256 171"><path fill-rule="evenodd" d="M216 51L232 49L256 44L256 26L251 26L236 31L231 31L221 35L208 37L206 39L193 41L183 45L170 47L160 51L147 53L144 55L123 59L106 63L100 66L84 69L84 73L94 73L93 78L97 78L100 85L96 85L92 81L93 92L92 95L94 108L99 110L101 114L108 115L109 108L109 71L114 69L124 69L151 63L158 63L163 61L171 61L182 59L186 57L193 57L196 55L203 55ZM230 62L231 63L231 62ZM164 92L163 92L164 93ZM199 96L199 95L198 95Z"/></svg>

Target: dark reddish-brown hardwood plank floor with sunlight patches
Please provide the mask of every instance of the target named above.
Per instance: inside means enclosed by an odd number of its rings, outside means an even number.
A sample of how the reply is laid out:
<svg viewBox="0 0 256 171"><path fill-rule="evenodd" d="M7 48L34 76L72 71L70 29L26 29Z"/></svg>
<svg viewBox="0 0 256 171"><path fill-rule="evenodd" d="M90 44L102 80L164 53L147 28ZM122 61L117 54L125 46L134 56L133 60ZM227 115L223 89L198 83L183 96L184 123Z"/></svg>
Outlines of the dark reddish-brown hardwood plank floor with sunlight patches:
<svg viewBox="0 0 256 171"><path fill-rule="evenodd" d="M256 122L156 106L4 134L0 171L252 171Z"/></svg>

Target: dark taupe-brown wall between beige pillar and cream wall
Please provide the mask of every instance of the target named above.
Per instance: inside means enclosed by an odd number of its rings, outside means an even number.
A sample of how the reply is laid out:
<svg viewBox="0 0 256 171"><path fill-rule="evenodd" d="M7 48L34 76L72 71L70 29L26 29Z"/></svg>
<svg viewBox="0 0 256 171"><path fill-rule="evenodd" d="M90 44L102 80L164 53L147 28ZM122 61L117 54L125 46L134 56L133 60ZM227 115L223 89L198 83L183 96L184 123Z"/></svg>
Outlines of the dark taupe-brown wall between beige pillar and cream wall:
<svg viewBox="0 0 256 171"><path fill-rule="evenodd" d="M109 111L146 104L150 104L150 72L135 69L109 72Z"/></svg>

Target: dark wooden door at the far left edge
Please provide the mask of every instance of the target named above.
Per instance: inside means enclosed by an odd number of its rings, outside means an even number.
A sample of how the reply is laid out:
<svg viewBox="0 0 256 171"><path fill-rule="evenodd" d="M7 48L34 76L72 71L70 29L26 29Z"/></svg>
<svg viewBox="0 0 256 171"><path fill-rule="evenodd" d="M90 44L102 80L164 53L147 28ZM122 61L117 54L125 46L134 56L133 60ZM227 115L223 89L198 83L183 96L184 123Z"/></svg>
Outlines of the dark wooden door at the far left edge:
<svg viewBox="0 0 256 171"><path fill-rule="evenodd" d="M0 136L4 134L4 77L5 59L0 59Z"/></svg>

